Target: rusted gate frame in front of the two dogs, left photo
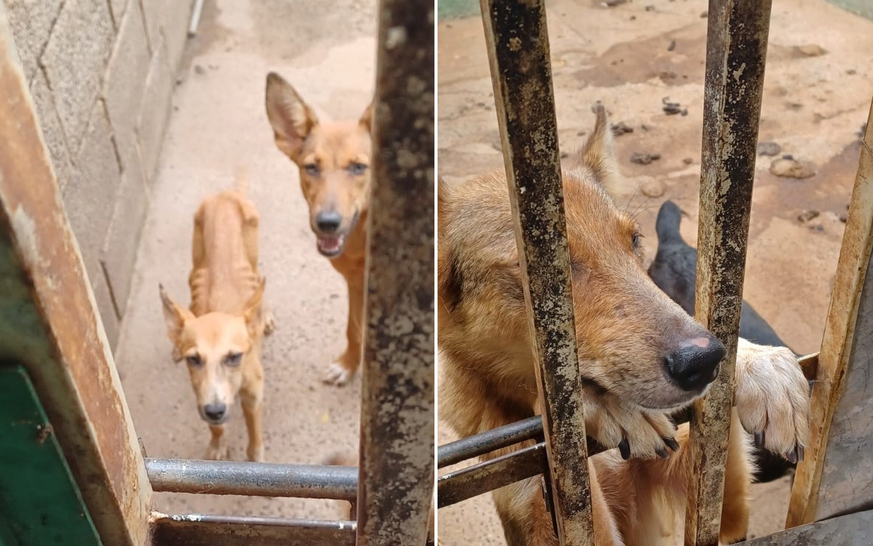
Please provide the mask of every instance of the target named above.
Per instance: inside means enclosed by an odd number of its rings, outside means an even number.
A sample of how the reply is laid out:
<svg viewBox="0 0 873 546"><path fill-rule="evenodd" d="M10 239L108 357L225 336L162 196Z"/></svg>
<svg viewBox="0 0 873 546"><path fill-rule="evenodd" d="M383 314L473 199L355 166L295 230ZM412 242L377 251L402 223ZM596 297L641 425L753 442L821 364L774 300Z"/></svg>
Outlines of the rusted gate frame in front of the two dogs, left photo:
<svg viewBox="0 0 873 546"><path fill-rule="evenodd" d="M143 458L0 3L0 372L32 385L51 425L31 433L62 454L58 472L93 543L432 542L433 3L382 0L378 13L359 470ZM357 514L164 515L153 491L340 499ZM4 529L0 543L13 543Z"/></svg>

